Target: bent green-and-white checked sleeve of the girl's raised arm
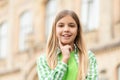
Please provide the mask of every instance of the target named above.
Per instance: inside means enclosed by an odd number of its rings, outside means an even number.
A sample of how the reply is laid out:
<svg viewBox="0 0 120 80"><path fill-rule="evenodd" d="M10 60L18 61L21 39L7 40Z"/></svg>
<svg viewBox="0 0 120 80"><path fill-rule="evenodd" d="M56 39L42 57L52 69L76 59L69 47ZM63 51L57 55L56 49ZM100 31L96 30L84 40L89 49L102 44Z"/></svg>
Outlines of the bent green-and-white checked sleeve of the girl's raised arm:
<svg viewBox="0 0 120 80"><path fill-rule="evenodd" d="M59 61L56 68L51 70L47 65L45 57L41 56L37 60L37 73L39 80L62 80L67 71L67 64Z"/></svg>

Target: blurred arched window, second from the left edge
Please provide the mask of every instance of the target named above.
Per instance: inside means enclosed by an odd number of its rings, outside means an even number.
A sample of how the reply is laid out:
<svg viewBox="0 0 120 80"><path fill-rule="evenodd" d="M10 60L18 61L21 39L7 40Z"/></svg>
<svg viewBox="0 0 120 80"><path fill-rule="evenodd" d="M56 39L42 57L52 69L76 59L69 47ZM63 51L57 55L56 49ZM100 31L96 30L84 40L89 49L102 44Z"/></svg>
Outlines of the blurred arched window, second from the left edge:
<svg viewBox="0 0 120 80"><path fill-rule="evenodd" d="M19 35L19 49L24 51L26 49L26 36L33 32L32 13L24 12L20 16L20 35Z"/></svg>

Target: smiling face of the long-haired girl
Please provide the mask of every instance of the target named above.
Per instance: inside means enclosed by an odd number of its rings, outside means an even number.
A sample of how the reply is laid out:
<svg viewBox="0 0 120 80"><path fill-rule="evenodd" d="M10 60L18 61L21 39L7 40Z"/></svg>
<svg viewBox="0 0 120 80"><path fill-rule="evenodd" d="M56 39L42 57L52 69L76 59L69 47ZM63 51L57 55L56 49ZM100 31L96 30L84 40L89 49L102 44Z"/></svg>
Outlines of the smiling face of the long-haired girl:
<svg viewBox="0 0 120 80"><path fill-rule="evenodd" d="M61 18L56 24L56 36L58 40L64 45L74 44L77 36L77 24L71 16Z"/></svg>

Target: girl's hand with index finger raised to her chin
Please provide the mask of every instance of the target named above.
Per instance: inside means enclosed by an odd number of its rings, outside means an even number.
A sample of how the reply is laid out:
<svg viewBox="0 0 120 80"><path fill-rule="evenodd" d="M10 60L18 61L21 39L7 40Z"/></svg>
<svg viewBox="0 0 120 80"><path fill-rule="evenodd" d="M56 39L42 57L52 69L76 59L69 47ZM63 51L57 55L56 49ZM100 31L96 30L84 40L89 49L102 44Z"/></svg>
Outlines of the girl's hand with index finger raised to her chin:
<svg viewBox="0 0 120 80"><path fill-rule="evenodd" d="M63 45L60 41L59 41L59 47L63 55L62 61L67 63L70 58L70 52L72 50L72 47L70 45Z"/></svg>

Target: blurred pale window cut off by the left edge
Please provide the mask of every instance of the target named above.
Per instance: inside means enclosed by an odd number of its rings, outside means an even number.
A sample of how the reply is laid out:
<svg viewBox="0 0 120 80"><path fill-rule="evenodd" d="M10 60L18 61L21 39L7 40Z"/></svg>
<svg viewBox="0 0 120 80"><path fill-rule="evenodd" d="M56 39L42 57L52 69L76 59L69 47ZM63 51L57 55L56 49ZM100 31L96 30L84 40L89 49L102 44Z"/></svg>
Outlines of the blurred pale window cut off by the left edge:
<svg viewBox="0 0 120 80"><path fill-rule="evenodd" d="M4 58L7 55L8 46L8 24L6 22L0 24L0 58Z"/></svg>

